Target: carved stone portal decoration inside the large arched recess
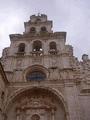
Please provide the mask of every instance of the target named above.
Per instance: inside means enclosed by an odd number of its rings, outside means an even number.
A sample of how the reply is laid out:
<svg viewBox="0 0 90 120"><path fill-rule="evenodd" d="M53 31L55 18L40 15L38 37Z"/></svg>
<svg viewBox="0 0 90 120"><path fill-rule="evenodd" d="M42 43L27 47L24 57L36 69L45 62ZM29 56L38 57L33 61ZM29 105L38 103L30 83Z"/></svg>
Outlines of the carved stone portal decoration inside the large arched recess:
<svg viewBox="0 0 90 120"><path fill-rule="evenodd" d="M33 120L32 116L37 114L40 117L34 120L45 119L44 117L48 120L54 120L55 109L54 103L49 98L44 99L42 96L27 97L17 104L16 118L17 120L23 120L24 118L25 120Z"/></svg>

